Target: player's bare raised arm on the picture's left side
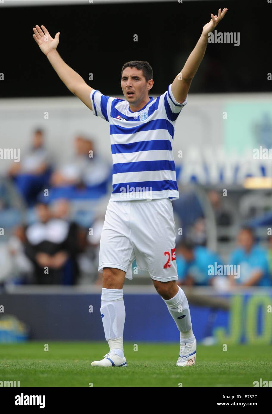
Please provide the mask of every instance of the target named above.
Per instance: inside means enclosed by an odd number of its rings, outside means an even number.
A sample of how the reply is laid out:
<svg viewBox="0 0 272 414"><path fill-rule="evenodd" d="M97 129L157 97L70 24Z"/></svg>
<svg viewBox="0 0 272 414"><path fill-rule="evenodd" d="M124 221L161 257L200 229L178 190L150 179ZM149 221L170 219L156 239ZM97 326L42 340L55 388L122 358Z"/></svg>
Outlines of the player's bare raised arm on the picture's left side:
<svg viewBox="0 0 272 414"><path fill-rule="evenodd" d="M78 96L79 99L92 110L90 94L93 88L88 86L84 79L76 73L72 67L69 67L57 52L60 33L57 33L55 39L53 39L45 26L41 26L41 28L39 26L33 28L34 40L38 43L41 51L46 55L52 67L69 91Z"/></svg>

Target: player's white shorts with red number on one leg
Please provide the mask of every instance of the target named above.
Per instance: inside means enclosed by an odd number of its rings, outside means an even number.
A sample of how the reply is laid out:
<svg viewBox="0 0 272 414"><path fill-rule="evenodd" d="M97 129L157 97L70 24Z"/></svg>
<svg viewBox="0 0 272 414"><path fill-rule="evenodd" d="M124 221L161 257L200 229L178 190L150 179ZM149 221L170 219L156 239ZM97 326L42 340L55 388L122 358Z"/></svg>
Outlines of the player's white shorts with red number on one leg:
<svg viewBox="0 0 272 414"><path fill-rule="evenodd" d="M98 271L115 267L132 279L131 265L160 282L177 280L176 231L172 202L109 201L102 229Z"/></svg>

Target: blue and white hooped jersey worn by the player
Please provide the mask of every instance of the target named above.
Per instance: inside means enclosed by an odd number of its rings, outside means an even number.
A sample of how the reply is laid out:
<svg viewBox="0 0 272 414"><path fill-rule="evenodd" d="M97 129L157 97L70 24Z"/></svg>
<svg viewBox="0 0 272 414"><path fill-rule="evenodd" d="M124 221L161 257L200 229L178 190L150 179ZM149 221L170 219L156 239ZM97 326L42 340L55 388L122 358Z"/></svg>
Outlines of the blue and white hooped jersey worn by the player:
<svg viewBox="0 0 272 414"><path fill-rule="evenodd" d="M172 84L171 84L172 85ZM172 151L174 126L182 107L168 90L139 111L129 102L91 91L93 114L110 123L111 200L179 198Z"/></svg>

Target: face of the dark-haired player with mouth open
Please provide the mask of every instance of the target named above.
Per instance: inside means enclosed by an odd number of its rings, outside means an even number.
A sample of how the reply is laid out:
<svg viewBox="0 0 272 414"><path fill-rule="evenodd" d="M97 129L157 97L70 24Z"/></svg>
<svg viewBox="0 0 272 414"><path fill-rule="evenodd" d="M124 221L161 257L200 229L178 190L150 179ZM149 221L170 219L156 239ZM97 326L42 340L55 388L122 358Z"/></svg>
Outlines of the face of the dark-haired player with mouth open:
<svg viewBox="0 0 272 414"><path fill-rule="evenodd" d="M137 104L148 96L148 82L143 76L143 71L135 67L126 67L123 70L121 87L124 97L129 103Z"/></svg>

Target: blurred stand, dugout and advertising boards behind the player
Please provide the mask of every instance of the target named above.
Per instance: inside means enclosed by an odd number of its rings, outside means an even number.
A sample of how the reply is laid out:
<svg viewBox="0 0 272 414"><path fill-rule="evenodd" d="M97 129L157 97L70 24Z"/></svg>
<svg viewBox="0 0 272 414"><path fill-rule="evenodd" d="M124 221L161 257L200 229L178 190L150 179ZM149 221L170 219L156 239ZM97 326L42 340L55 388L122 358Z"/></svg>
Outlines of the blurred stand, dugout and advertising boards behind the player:
<svg viewBox="0 0 272 414"><path fill-rule="evenodd" d="M270 344L272 4L5 0L0 7L0 341L104 338L97 269L112 191L109 127L71 96L33 27L44 24L52 37L60 31L64 61L105 95L122 98L122 65L147 60L155 98L182 69L210 13L227 7L217 31L239 33L239 45L208 44L176 123L179 284L196 339ZM215 263L239 265L239 278L210 274ZM132 274L124 339L178 340L148 274L136 262Z"/></svg>

